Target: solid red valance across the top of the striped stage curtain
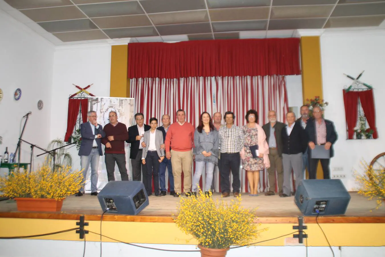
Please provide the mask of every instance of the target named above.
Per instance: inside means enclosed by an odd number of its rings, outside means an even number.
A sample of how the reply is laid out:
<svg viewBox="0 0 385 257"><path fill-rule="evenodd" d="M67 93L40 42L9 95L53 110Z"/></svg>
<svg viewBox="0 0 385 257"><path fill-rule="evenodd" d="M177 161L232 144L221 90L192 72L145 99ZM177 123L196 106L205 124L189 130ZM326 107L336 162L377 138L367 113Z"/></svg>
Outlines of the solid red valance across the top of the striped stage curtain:
<svg viewBox="0 0 385 257"><path fill-rule="evenodd" d="M298 75L300 39L128 44L128 78Z"/></svg>

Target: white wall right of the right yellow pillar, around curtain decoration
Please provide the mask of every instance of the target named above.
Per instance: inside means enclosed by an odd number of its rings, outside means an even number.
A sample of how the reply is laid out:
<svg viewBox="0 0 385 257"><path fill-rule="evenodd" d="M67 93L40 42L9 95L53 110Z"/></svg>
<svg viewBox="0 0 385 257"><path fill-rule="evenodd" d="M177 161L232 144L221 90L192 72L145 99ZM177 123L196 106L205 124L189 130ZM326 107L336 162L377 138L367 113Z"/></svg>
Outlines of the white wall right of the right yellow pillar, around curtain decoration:
<svg viewBox="0 0 385 257"><path fill-rule="evenodd" d="M335 144L335 157L331 159L331 174L345 174L343 182L348 190L353 190L355 179L352 170L360 169L360 162L370 163L373 157L385 152L385 119L383 118L383 99L385 97L385 30L325 32L321 36L321 60L323 79L323 98L330 103L325 118L332 120L338 133ZM379 138L346 140L345 108L342 90L352 80L343 73L355 77L363 70L361 81L374 87L376 125ZM343 171L333 171L342 167Z"/></svg>

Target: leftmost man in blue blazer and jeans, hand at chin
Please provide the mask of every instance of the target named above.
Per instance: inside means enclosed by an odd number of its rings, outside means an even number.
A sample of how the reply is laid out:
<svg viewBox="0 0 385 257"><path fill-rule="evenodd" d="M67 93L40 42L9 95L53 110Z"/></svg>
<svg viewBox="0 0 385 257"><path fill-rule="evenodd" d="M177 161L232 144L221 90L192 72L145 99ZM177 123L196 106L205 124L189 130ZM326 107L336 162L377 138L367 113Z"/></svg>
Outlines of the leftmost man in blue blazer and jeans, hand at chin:
<svg viewBox="0 0 385 257"><path fill-rule="evenodd" d="M80 144L80 167L83 170L83 183L87 177L88 168L91 164L91 195L97 195L97 179L99 177L98 167L100 156L103 155L101 138L105 137L102 125L96 121L96 112L87 113L88 122L80 124L82 143ZM76 196L84 194L84 184Z"/></svg>

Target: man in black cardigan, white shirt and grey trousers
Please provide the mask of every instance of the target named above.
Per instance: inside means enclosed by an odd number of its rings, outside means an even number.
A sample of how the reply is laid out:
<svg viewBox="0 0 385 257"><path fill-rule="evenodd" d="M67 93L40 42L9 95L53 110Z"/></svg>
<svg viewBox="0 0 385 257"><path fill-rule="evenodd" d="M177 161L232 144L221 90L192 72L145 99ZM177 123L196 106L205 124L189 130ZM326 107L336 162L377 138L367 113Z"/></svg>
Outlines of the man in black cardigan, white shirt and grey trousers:
<svg viewBox="0 0 385 257"><path fill-rule="evenodd" d="M283 159L283 194L281 197L291 196L291 170L294 171L295 189L303 179L302 154L308 144L305 130L300 123L295 122L295 113L286 113L288 125L282 130L282 159Z"/></svg>

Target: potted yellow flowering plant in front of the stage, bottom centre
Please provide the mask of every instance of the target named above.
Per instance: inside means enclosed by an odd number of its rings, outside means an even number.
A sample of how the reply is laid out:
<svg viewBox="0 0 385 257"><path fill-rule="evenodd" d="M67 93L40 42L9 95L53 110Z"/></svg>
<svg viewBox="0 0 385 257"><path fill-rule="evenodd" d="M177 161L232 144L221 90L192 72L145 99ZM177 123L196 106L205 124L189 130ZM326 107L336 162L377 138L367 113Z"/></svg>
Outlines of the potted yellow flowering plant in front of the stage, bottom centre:
<svg viewBox="0 0 385 257"><path fill-rule="evenodd" d="M227 203L209 194L199 189L197 197L181 198L173 216L177 227L198 240L202 257L226 256L230 245L246 245L263 231L252 211L241 206L241 197Z"/></svg>

